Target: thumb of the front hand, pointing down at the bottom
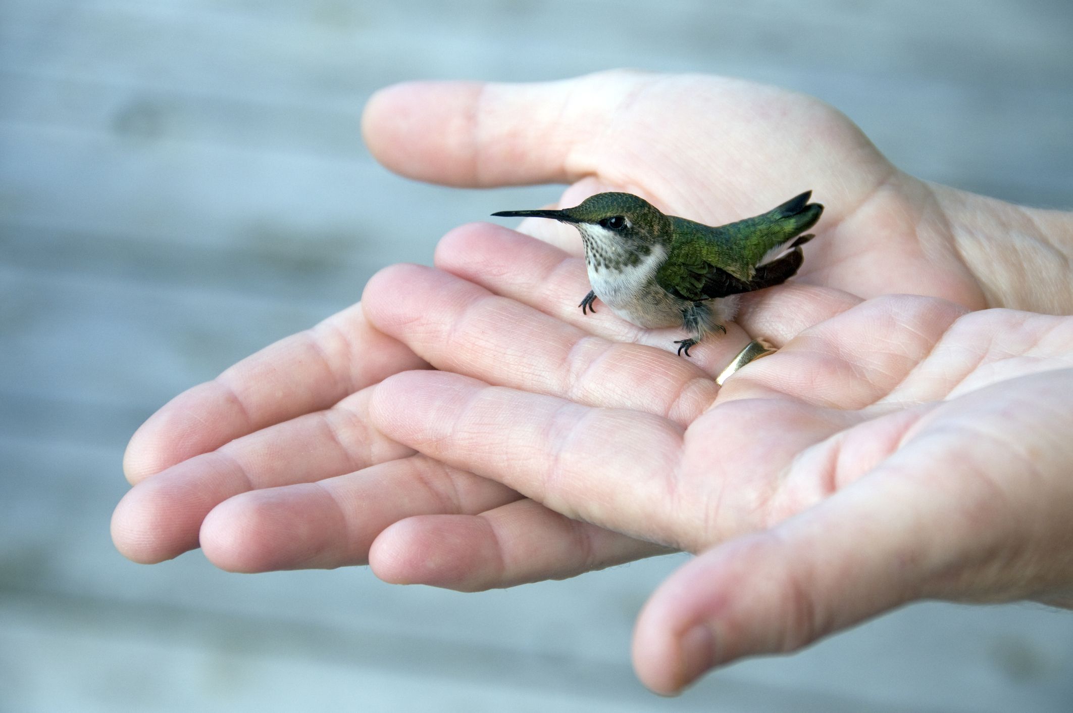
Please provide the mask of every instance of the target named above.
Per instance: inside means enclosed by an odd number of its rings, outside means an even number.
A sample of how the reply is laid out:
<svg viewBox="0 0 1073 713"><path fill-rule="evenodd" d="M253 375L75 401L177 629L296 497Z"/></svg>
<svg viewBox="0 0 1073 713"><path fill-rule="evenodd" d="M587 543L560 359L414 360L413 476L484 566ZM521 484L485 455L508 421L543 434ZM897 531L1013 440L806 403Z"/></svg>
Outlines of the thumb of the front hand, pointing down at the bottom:
<svg viewBox="0 0 1073 713"><path fill-rule="evenodd" d="M932 506L894 478L868 485L717 545L672 574L634 630L645 685L674 695L715 666L795 651L920 596L927 572L942 566L929 553L940 541L935 528L923 525Z"/></svg>

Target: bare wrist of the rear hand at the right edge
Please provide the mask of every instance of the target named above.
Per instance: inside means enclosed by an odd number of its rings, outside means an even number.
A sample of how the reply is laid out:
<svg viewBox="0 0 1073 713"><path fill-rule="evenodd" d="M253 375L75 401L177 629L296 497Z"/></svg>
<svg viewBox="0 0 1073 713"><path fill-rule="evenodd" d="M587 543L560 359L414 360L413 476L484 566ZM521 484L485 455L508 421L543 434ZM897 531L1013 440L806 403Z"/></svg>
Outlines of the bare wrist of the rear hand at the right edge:
<svg viewBox="0 0 1073 713"><path fill-rule="evenodd" d="M1073 314L1073 213L931 185L951 239L988 307Z"/></svg>

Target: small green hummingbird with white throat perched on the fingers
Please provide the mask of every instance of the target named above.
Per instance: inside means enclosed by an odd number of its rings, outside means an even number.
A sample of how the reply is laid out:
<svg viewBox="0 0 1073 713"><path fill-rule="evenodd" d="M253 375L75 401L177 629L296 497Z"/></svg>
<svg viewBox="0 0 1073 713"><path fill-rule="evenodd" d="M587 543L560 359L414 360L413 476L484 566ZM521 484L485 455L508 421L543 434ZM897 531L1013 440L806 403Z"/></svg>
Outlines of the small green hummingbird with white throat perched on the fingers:
<svg viewBox="0 0 1073 713"><path fill-rule="evenodd" d="M767 213L725 225L664 215L632 193L597 193L561 210L501 210L500 217L550 218L582 234L592 290L577 306L596 312L599 297L637 326L680 326L678 354L737 311L738 295L781 285L804 261L802 235L823 213L805 191ZM796 239L795 239L796 238ZM793 242L791 242L793 241Z"/></svg>

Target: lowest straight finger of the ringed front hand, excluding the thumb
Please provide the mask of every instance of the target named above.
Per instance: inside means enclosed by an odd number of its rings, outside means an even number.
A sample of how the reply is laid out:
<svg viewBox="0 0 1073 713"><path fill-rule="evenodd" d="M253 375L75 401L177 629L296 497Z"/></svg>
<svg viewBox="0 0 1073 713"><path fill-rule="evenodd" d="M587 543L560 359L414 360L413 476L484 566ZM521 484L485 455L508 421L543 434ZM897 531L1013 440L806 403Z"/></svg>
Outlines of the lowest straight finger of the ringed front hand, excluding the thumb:
<svg viewBox="0 0 1073 713"><path fill-rule="evenodd" d="M693 514L675 508L682 428L661 417L443 372L383 381L369 416L386 436L574 520L677 548L680 525Z"/></svg>

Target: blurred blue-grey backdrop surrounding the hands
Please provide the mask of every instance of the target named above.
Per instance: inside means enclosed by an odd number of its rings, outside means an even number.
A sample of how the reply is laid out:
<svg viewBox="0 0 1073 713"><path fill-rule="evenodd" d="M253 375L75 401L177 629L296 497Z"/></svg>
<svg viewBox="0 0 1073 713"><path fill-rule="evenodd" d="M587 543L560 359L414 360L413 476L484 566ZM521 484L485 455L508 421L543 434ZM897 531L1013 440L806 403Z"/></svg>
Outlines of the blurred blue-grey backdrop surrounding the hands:
<svg viewBox="0 0 1073 713"><path fill-rule="evenodd" d="M1042 607L918 605L662 700L630 631L681 555L462 595L108 539L166 399L556 197L389 175L357 131L376 88L738 75L916 175L1069 208L1071 38L1069 0L0 0L0 710L1073 710L1073 614Z"/></svg>

